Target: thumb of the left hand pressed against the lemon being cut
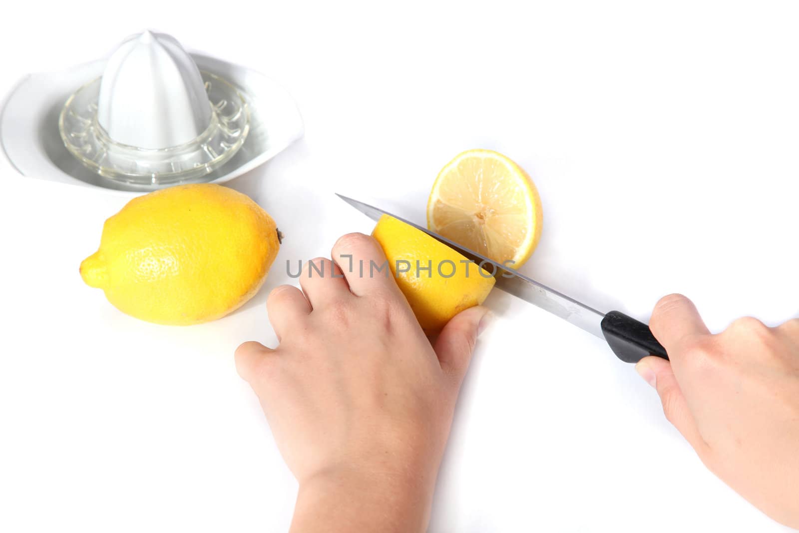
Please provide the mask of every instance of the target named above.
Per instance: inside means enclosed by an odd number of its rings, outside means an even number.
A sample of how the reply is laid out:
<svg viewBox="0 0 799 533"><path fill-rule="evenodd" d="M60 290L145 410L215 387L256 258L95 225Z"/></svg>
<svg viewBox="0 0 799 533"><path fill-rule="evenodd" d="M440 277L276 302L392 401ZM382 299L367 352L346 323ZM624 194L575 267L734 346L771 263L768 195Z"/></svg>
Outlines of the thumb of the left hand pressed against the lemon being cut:
<svg viewBox="0 0 799 533"><path fill-rule="evenodd" d="M493 314L481 306L472 307L453 316L435 340L435 355L444 372L460 385L475 350L477 336L485 329Z"/></svg>

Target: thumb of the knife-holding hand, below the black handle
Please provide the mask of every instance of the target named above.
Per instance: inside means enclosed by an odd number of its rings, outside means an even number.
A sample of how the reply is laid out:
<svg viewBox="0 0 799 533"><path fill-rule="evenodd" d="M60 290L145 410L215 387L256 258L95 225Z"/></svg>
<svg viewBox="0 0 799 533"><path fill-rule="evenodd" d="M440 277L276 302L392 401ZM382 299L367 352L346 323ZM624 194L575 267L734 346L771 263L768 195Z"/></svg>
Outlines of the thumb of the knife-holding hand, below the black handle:
<svg viewBox="0 0 799 533"><path fill-rule="evenodd" d="M704 455L707 444L699 433L669 361L654 356L644 357L635 365L635 371L658 391L666 420L677 428L700 456Z"/></svg>

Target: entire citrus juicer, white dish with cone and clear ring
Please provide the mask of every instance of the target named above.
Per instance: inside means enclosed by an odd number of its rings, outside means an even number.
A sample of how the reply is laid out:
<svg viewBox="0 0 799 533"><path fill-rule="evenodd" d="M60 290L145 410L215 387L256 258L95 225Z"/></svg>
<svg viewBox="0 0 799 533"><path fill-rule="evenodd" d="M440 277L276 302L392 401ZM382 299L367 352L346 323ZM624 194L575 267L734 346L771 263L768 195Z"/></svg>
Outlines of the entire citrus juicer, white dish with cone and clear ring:
<svg viewBox="0 0 799 533"><path fill-rule="evenodd" d="M126 196L229 181L303 132L271 78L151 31L108 58L27 74L0 109L0 149L22 176Z"/></svg>

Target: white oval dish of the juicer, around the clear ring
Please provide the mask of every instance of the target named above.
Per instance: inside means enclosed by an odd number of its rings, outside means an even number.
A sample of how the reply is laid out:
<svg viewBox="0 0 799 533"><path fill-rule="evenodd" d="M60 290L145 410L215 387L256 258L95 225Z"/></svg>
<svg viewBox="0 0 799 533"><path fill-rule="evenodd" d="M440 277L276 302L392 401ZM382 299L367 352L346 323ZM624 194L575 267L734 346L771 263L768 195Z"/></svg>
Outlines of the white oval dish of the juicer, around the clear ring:
<svg viewBox="0 0 799 533"><path fill-rule="evenodd" d="M286 89L254 70L201 54L191 56L200 70L217 74L236 86L250 109L250 131L244 145L205 181L223 183L240 176L303 136L300 111ZM22 176L127 196L147 192L109 181L85 168L67 152L58 133L62 105L75 89L102 74L105 61L85 63L63 72L28 74L11 90L0 110L0 148Z"/></svg>

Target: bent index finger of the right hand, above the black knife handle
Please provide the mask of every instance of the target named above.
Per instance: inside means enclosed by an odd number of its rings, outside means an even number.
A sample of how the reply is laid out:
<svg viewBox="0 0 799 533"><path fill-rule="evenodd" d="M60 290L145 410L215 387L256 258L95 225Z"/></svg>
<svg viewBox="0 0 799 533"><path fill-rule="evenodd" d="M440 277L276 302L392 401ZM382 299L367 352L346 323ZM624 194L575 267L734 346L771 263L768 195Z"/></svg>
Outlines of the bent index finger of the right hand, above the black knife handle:
<svg viewBox="0 0 799 533"><path fill-rule="evenodd" d="M658 301L652 311L650 329L670 355L678 352L686 338L710 335L694 302L682 294L663 296Z"/></svg>

